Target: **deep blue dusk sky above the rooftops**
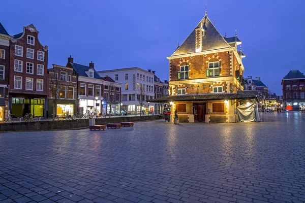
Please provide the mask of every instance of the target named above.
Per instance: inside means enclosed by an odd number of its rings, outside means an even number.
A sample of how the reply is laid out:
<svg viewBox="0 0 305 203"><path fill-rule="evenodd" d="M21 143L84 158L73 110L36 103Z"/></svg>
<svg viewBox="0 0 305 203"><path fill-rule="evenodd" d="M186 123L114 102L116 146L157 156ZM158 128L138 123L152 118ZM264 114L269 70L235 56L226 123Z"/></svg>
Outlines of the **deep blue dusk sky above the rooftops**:
<svg viewBox="0 0 305 203"><path fill-rule="evenodd" d="M49 65L95 63L97 71L140 67L168 80L168 59L204 17L242 41L245 76L261 77L282 95L289 70L305 72L305 1L52 0L3 1L0 22L10 35L33 23L49 46ZM5 8L5 9L4 9Z"/></svg>

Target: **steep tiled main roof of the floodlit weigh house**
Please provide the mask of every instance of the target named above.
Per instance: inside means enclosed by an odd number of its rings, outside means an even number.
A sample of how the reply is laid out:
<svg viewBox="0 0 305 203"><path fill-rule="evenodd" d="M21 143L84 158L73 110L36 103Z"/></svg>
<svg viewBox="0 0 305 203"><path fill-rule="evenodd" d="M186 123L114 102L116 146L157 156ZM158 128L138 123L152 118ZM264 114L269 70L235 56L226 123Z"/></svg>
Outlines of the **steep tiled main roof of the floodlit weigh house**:
<svg viewBox="0 0 305 203"><path fill-rule="evenodd" d="M201 51L216 50L216 49L231 47L228 45L225 39L220 35L216 27L212 24L212 22L209 20L209 18L206 15L198 23L195 29L191 32L189 37L181 44L180 47L176 49L176 51L172 54L172 56L195 53L196 51L195 32L197 27L201 27L201 24L203 25L203 29L205 30L204 36L202 37Z"/></svg>

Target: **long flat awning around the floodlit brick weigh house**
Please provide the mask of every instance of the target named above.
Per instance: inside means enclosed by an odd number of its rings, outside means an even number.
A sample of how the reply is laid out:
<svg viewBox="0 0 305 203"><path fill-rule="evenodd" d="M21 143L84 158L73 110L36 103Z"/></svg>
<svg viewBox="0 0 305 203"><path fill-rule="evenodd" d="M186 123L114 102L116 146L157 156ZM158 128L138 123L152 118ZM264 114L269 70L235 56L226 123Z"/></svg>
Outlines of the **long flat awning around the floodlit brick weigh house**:
<svg viewBox="0 0 305 203"><path fill-rule="evenodd" d="M204 101L204 100L224 100L224 99L252 99L255 94L236 94L236 93L207 93L207 94L184 94L165 96L162 98L148 100L155 103L168 103L170 101Z"/></svg>

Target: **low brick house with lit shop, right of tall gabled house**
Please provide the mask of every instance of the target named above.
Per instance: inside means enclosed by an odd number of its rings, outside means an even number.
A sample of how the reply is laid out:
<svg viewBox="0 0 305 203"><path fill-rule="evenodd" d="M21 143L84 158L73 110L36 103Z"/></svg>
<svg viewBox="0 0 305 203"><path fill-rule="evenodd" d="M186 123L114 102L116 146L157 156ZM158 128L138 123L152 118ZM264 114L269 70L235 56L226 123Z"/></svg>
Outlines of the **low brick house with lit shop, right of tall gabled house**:
<svg viewBox="0 0 305 203"><path fill-rule="evenodd" d="M71 67L53 64L48 69L48 117L74 114L77 111L77 78ZM56 105L55 105L56 104Z"/></svg>

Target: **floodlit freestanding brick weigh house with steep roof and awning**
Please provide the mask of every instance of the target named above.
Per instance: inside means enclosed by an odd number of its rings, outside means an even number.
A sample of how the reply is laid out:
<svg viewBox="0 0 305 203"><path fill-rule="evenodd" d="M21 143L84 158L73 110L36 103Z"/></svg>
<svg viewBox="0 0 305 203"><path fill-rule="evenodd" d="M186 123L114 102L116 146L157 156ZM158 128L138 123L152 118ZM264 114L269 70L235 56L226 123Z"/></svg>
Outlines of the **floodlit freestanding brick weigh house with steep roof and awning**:
<svg viewBox="0 0 305 203"><path fill-rule="evenodd" d="M235 107L255 95L243 90L242 57L235 37L222 37L207 15L169 59L171 121L177 110L180 122L236 122Z"/></svg>

